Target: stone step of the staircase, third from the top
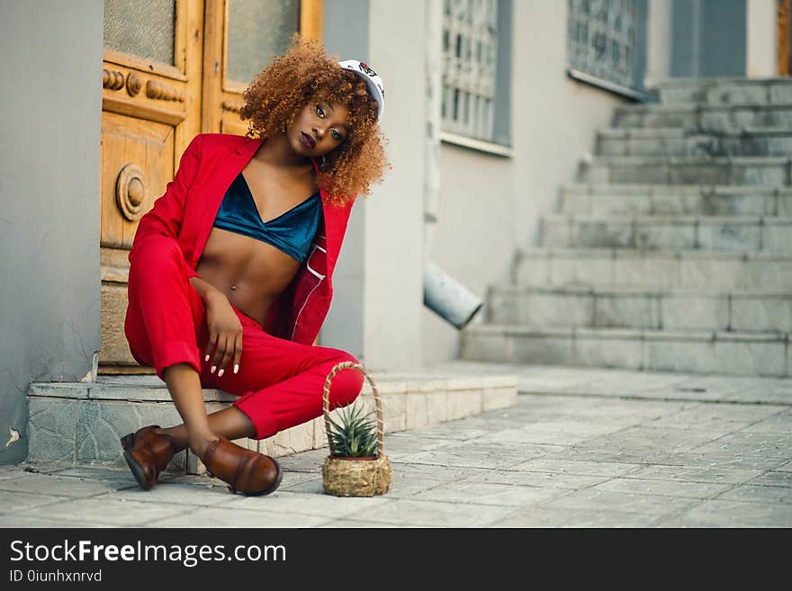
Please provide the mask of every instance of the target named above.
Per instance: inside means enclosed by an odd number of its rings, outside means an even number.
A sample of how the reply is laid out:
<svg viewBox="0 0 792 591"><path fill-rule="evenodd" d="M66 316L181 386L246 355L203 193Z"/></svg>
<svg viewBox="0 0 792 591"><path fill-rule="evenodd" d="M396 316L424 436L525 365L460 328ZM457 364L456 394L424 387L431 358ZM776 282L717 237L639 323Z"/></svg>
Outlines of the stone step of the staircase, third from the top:
<svg viewBox="0 0 792 591"><path fill-rule="evenodd" d="M598 156L726 157L788 156L792 127L700 131L670 129L600 130Z"/></svg>

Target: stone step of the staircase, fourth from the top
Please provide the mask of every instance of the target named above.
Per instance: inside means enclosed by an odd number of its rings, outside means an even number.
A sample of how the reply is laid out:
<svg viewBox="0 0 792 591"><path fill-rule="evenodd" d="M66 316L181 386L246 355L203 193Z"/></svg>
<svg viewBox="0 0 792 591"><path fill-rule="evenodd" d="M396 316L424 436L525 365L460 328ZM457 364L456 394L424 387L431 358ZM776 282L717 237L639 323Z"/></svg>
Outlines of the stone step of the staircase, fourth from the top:
<svg viewBox="0 0 792 591"><path fill-rule="evenodd" d="M581 161L584 184L748 184L788 186L789 157L598 157Z"/></svg>

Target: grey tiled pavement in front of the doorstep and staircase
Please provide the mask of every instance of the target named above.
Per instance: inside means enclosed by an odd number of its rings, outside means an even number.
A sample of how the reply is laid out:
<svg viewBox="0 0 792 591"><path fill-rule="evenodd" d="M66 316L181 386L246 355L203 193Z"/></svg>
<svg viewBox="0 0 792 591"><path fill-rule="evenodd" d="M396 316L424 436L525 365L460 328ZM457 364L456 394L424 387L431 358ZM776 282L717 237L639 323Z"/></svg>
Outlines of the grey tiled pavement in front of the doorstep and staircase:
<svg viewBox="0 0 792 591"><path fill-rule="evenodd" d="M268 497L199 476L144 492L127 470L4 466L0 526L792 526L792 380L454 367L517 374L517 405L387 435L382 497L322 494L326 450L281 458Z"/></svg>

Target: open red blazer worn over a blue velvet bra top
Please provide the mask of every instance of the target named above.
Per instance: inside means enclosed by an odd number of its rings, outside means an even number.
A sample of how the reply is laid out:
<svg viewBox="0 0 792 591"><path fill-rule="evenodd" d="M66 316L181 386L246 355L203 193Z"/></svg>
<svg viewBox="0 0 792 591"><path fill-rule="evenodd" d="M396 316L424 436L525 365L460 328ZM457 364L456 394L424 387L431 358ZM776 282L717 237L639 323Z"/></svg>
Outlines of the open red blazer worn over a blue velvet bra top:
<svg viewBox="0 0 792 591"><path fill-rule="evenodd" d="M134 263L135 246L151 235L171 237L184 253L184 260L195 267L209 239L220 202L231 182L247 165L261 139L225 133L201 133L184 150L174 180L154 207L140 218L129 254ZM313 163L319 172L319 166ZM266 318L267 333L304 345L319 335L333 296L331 282L338 252L347 230L352 201L330 205L321 192L324 219L320 223L311 252L293 282L275 300Z"/></svg>

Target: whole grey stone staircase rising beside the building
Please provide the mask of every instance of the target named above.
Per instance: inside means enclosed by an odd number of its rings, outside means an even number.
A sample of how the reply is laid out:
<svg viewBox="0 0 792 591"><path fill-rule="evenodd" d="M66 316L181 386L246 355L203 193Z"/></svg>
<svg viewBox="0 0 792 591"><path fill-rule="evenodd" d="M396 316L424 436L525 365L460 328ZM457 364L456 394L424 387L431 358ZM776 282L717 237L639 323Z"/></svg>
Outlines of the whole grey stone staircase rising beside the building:
<svg viewBox="0 0 792 591"><path fill-rule="evenodd" d="M792 83L619 107L465 360L792 376Z"/></svg>

